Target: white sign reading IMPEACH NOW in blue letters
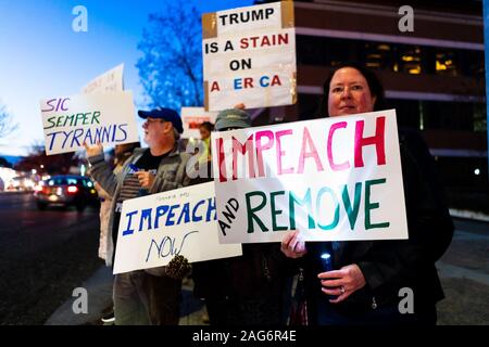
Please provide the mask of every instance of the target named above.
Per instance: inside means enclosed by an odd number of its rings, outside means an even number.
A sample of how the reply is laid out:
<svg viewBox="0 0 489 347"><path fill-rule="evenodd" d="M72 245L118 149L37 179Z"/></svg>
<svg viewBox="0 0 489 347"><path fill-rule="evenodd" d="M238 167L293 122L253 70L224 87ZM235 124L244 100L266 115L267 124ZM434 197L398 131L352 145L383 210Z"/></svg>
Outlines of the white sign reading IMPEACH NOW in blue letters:
<svg viewBox="0 0 489 347"><path fill-rule="evenodd" d="M240 244L220 244L214 183L123 203L114 273L165 266L175 255L189 262L242 255Z"/></svg>

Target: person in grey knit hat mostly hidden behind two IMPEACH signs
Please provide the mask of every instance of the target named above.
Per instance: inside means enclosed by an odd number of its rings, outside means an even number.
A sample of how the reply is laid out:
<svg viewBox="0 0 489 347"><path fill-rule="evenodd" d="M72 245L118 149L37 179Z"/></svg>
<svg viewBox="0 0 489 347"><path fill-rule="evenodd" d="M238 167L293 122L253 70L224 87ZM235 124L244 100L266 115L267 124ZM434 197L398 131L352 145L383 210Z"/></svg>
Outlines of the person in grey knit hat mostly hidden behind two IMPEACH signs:
<svg viewBox="0 0 489 347"><path fill-rule="evenodd" d="M240 107L240 108L238 108ZM244 105L222 111L215 129L251 127ZM206 172L212 172L211 160ZM198 178L192 184L211 181ZM193 295L205 301L211 325L284 324L284 290L288 259L280 244L243 244L242 256L199 261L192 265Z"/></svg>

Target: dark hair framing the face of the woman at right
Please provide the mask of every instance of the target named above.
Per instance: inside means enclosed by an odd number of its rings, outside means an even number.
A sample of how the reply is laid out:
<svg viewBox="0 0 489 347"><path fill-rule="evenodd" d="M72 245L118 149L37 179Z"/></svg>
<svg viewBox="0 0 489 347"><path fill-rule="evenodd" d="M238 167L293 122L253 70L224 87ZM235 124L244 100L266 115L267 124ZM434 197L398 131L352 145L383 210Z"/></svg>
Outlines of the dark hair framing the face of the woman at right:
<svg viewBox="0 0 489 347"><path fill-rule="evenodd" d="M326 78L326 81L323 85L323 98L321 99L319 110L317 110L318 117L321 117L321 118L329 117L329 115L327 113L329 85L330 85L333 76L335 76L336 72L338 72L340 68L344 68L344 67L354 68L354 69L359 70L363 75L363 77L365 77L367 85L368 85L368 89L371 90L372 97L376 98L375 104L374 104L374 111L385 110L386 108L386 95L384 92L384 86L380 82L380 79L377 77L377 75L373 70L360 65L359 63L348 62L348 63L340 63L340 64L336 65L329 73L328 77Z"/></svg>

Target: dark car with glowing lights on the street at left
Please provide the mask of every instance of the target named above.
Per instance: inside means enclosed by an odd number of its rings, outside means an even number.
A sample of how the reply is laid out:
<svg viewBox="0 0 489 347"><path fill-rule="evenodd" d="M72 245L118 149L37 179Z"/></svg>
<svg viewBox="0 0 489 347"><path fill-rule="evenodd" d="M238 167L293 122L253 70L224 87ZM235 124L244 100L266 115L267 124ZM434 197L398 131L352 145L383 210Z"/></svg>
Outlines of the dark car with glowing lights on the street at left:
<svg viewBox="0 0 489 347"><path fill-rule="evenodd" d="M75 206L82 211L89 205L99 204L93 182L84 176L53 176L36 187L34 196L39 209L48 206Z"/></svg>

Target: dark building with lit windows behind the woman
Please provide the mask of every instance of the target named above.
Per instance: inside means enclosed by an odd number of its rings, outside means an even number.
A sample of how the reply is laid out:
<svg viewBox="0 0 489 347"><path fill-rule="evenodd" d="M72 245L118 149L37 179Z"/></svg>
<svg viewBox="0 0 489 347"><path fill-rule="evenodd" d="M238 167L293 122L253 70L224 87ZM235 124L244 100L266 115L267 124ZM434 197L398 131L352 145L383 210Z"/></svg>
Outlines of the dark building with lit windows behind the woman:
<svg viewBox="0 0 489 347"><path fill-rule="evenodd" d="M294 1L298 103L256 111L255 124L315 118L331 67L360 62L380 77L399 126L422 132L446 184L487 187L481 1L403 4Z"/></svg>

